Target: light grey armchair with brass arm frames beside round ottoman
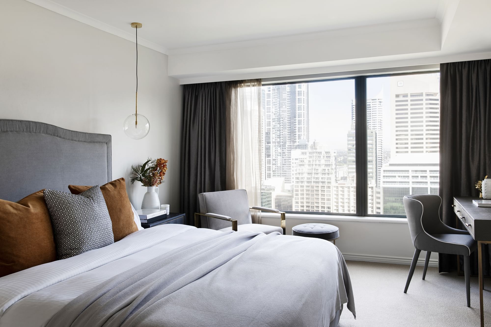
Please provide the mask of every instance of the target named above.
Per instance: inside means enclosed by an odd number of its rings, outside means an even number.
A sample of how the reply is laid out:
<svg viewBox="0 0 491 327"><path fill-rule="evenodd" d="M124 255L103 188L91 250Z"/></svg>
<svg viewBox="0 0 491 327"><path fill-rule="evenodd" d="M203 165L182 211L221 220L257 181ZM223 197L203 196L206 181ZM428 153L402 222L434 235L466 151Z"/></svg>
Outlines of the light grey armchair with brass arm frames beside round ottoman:
<svg viewBox="0 0 491 327"><path fill-rule="evenodd" d="M265 234L280 232L285 234L285 213L264 207L249 208L246 190L206 192L198 194L199 211L194 214L196 227L227 230L250 230ZM281 227L253 224L250 209L280 214ZM200 220L198 218L201 218ZM232 225L232 226L230 226Z"/></svg>

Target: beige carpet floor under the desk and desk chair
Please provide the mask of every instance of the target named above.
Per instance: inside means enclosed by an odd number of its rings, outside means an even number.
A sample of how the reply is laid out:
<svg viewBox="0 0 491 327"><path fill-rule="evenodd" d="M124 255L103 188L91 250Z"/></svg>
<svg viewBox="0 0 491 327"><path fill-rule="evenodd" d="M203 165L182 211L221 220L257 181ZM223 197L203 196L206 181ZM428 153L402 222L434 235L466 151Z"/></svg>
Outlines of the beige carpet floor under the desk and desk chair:
<svg viewBox="0 0 491 327"><path fill-rule="evenodd" d="M479 327L479 288L471 278L470 305L464 276L416 267L404 294L409 266L347 261L355 295L356 320L346 306L339 327ZM491 278L484 279L491 290ZM484 291L485 326L491 327L491 292Z"/></svg>

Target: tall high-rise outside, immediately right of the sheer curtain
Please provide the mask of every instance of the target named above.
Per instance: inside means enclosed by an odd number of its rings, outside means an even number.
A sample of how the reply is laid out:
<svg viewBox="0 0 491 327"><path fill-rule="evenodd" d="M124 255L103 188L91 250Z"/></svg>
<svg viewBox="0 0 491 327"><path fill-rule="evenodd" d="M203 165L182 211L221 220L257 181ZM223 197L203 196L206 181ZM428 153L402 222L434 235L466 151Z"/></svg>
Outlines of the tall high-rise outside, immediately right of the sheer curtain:
<svg viewBox="0 0 491 327"><path fill-rule="evenodd" d="M292 151L309 141L308 84L263 86L263 178L292 182Z"/></svg>

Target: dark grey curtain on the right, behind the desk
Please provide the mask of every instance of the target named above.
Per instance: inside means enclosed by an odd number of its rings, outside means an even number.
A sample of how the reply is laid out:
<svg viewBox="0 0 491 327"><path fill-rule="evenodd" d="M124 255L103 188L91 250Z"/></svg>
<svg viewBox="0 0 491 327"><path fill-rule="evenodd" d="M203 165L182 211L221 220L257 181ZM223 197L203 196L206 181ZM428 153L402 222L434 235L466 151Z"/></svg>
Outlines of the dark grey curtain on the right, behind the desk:
<svg viewBox="0 0 491 327"><path fill-rule="evenodd" d="M479 196L474 184L486 175L491 175L491 59L440 64L439 192L444 223L456 227L453 197ZM484 250L484 273L489 275L487 246ZM456 264L455 256L439 255L439 272L449 272ZM477 273L477 250L471 269Z"/></svg>

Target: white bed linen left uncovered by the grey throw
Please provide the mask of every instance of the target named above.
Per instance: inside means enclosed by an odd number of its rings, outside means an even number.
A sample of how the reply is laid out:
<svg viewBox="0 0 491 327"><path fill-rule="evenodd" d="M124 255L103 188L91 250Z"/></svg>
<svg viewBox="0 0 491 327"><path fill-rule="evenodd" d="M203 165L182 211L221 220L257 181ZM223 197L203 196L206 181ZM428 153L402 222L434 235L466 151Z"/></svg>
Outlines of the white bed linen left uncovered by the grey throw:
<svg viewBox="0 0 491 327"><path fill-rule="evenodd" d="M114 244L0 278L0 327L46 326L53 315L103 281L171 249L216 233L181 224L139 230Z"/></svg>

